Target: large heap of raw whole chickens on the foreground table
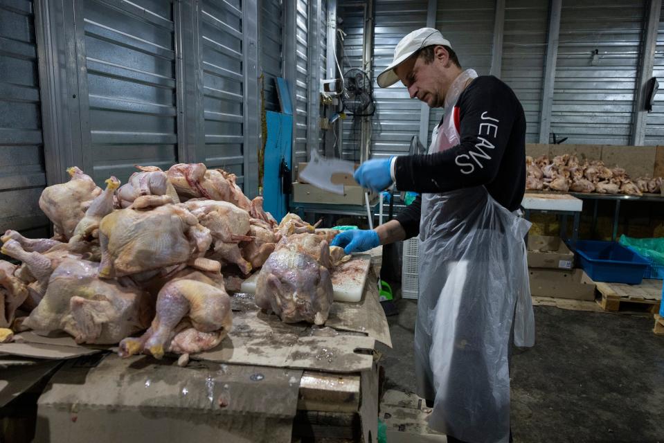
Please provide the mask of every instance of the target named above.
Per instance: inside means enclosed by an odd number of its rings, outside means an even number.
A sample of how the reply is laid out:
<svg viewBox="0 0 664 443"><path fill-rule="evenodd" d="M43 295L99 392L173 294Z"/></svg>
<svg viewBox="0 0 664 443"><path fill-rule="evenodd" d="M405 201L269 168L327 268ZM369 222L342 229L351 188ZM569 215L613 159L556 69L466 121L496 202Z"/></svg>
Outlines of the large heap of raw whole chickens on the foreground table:
<svg viewBox="0 0 664 443"><path fill-rule="evenodd" d="M6 341L33 329L120 343L121 356L208 350L231 329L226 290L239 291L258 268L258 307L286 323L325 323L330 272L348 258L328 246L336 231L293 214L277 223L234 174L202 163L137 168L123 186L107 179L105 190L69 168L71 180L39 199L54 237L1 237L1 252L21 262L0 260Z"/></svg>

